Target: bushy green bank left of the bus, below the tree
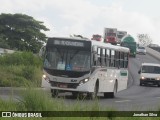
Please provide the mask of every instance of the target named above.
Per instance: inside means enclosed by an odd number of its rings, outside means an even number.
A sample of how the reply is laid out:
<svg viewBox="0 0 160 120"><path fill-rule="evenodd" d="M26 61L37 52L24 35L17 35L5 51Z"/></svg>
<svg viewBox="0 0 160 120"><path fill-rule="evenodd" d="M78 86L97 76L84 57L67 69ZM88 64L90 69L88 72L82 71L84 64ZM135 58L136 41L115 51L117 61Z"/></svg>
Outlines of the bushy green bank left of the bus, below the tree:
<svg viewBox="0 0 160 120"><path fill-rule="evenodd" d="M42 61L31 52L0 56L0 86L40 86Z"/></svg>

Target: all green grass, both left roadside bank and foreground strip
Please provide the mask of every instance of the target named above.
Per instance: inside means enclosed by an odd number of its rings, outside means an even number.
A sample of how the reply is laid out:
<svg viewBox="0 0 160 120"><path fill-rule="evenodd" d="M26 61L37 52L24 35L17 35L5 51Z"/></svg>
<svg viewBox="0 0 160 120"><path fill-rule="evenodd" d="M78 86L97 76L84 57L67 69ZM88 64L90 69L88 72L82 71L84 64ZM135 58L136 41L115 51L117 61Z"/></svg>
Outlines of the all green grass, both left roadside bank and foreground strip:
<svg viewBox="0 0 160 120"><path fill-rule="evenodd" d="M98 99L84 105L84 99L66 104L65 98L51 98L50 93L39 89L42 76L42 60L31 52L16 52L0 56L0 87L27 87L22 90L21 98L0 99L0 111L116 111L108 106L99 105ZM82 102L83 101L83 102ZM59 112L60 113L60 112ZM83 116L83 115L82 115ZM144 117L46 117L46 118L0 118L0 120L159 120Z"/></svg>

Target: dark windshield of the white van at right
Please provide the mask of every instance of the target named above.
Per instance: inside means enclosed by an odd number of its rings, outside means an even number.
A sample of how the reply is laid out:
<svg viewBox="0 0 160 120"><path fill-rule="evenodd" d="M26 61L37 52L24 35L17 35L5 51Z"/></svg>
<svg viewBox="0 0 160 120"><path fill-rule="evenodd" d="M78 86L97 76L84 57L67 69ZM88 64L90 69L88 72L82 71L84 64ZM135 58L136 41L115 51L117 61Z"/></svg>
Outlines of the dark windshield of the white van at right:
<svg viewBox="0 0 160 120"><path fill-rule="evenodd" d="M160 67L158 67L158 66L143 66L142 73L160 74Z"/></svg>

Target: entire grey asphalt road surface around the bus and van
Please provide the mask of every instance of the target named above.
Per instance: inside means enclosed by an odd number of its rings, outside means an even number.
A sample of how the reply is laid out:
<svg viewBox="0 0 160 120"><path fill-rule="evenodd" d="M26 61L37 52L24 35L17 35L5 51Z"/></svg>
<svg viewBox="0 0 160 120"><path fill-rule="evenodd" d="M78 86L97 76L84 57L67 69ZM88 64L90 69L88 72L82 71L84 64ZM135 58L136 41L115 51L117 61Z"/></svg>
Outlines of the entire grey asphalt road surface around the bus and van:
<svg viewBox="0 0 160 120"><path fill-rule="evenodd" d="M160 63L150 55L137 55L129 61L129 81L128 88L116 94L114 99L105 99L102 94L98 94L98 104L106 108L113 108L119 111L157 111L160 108L160 88L157 86L139 86L138 70L142 62ZM0 88L0 98L7 100L12 95L15 100L20 99L19 88L14 89L14 94L10 88ZM67 105L77 103L70 93L60 94L65 96L64 102ZM59 98L60 99L60 98ZM93 100L80 100L83 105L92 105Z"/></svg>

